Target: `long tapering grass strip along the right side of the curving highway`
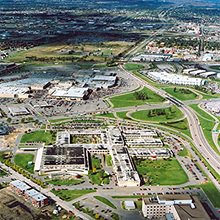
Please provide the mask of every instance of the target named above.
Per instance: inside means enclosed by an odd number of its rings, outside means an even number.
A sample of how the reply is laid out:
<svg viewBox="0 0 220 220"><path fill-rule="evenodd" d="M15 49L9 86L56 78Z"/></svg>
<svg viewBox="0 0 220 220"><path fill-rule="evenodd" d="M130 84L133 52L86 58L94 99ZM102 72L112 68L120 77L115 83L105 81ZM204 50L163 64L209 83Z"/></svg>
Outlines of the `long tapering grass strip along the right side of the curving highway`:
<svg viewBox="0 0 220 220"><path fill-rule="evenodd" d="M212 130L215 126L214 118L205 111L203 111L201 108L199 108L199 106L196 104L190 105L190 107L197 113L200 125L209 145L213 148L213 150L215 150L216 153L219 154L220 152L218 151L218 148L215 146L215 143L212 139Z"/></svg>

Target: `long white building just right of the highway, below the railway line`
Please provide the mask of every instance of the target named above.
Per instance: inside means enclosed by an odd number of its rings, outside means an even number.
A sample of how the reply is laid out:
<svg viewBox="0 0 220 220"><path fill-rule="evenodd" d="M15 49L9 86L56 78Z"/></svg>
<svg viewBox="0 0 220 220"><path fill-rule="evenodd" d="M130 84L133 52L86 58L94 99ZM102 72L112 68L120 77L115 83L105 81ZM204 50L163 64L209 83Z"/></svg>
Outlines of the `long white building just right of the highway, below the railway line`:
<svg viewBox="0 0 220 220"><path fill-rule="evenodd" d="M148 76L160 83L175 84L175 85L189 85L189 86L202 86L205 80L200 78L193 78L184 75L171 74L167 72L148 72Z"/></svg>

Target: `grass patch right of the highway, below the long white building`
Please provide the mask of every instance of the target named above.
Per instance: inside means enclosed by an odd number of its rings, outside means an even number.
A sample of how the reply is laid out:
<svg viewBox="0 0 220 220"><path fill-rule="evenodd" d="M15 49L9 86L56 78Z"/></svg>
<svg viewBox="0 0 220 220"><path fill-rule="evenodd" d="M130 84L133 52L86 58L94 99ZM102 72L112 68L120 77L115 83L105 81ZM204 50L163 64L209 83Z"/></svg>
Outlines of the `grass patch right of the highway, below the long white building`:
<svg viewBox="0 0 220 220"><path fill-rule="evenodd" d="M167 87L163 88L167 93L174 96L175 98L185 101L185 100L195 100L198 98L197 94L189 89L177 88L177 87Z"/></svg>

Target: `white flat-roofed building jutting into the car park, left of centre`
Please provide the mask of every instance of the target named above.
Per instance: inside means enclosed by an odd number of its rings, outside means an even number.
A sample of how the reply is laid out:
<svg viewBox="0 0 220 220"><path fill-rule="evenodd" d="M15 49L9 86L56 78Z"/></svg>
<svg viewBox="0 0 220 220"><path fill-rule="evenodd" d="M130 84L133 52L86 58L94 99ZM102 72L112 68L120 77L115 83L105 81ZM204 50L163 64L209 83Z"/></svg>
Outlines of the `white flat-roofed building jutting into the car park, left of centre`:
<svg viewBox="0 0 220 220"><path fill-rule="evenodd" d="M67 100L75 100L80 101L86 99L89 95L88 88L75 88L71 87L70 89L55 89L55 91L51 94L52 97L56 98L64 98Z"/></svg>

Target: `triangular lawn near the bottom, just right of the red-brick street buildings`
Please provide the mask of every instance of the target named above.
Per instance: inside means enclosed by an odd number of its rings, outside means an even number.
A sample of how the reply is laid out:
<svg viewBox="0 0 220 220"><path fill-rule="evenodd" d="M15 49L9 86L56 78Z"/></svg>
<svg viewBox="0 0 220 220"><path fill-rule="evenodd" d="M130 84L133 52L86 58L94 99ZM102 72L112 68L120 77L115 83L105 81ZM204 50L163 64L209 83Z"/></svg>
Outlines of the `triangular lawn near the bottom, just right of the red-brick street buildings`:
<svg viewBox="0 0 220 220"><path fill-rule="evenodd" d="M60 199L65 201L71 201L74 200L80 196L86 195L88 193L96 192L96 190L55 190L52 189L51 192L58 196Z"/></svg>

